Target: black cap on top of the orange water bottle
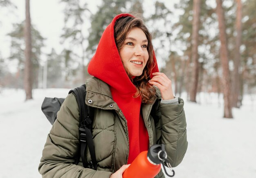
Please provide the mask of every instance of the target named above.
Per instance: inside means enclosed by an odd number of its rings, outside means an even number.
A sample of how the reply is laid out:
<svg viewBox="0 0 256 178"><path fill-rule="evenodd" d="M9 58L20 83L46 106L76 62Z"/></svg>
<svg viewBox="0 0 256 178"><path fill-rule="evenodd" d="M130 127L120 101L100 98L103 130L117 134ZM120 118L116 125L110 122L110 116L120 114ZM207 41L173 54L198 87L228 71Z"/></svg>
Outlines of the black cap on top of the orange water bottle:
<svg viewBox="0 0 256 178"><path fill-rule="evenodd" d="M166 152L165 152L165 149L164 149L164 144L153 145L152 147L150 147L148 149L148 158L154 164L157 164L157 165L161 164L159 156L160 156L160 158L162 158L162 156L164 156L164 157L166 156Z"/></svg>

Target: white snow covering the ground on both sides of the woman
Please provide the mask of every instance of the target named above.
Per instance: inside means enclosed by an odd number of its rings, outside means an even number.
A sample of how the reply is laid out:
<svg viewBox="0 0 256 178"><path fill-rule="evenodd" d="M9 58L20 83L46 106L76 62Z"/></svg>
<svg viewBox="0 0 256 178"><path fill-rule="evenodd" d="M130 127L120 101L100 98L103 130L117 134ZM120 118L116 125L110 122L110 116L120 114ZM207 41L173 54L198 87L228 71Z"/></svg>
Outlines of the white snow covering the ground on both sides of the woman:
<svg viewBox="0 0 256 178"><path fill-rule="evenodd" d="M68 91L35 89L34 100L25 102L23 90L2 89L0 178L41 177L38 164L51 129L41 104L45 96L64 98ZM222 99L214 93L200 93L200 104L185 102L189 146L174 178L256 178L255 100L245 96L234 119L222 118Z"/></svg>

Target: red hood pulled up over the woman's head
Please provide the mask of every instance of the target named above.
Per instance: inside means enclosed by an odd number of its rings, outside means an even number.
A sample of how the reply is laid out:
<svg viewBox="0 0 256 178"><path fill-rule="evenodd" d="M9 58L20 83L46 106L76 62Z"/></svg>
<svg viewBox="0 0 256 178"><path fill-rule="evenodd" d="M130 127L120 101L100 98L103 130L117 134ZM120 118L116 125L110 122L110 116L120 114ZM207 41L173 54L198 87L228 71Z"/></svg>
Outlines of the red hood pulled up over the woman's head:
<svg viewBox="0 0 256 178"><path fill-rule="evenodd" d="M112 20L101 36L97 50L88 65L88 73L106 82L118 93L130 95L134 94L136 89L124 69L114 38L115 22L124 16L134 17L123 13ZM154 61L156 65L152 69L152 73L158 71L155 54Z"/></svg>

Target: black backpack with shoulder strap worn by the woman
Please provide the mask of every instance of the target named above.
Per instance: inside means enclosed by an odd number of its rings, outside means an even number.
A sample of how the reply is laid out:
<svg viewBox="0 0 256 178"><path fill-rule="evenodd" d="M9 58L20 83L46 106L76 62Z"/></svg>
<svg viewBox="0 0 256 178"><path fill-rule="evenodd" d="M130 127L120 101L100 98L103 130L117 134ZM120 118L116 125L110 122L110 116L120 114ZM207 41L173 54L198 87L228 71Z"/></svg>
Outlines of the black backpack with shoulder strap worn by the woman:
<svg viewBox="0 0 256 178"><path fill-rule="evenodd" d="M94 145L92 142L92 121L94 118L93 108L89 107L85 104L85 95L86 95L86 87L85 85L81 85L73 90L69 91L70 93L74 93L76 96L76 100L79 107L79 142L80 142L80 151L76 158L76 165L79 163L79 158L81 156L83 161L83 167L97 169L97 161L95 157ZM45 97L42 103L42 111L49 120L49 122L53 125L54 121L57 118L57 112L60 110L62 103L65 98L47 98ZM92 161L87 162L86 160L86 149L90 151L90 156Z"/></svg>

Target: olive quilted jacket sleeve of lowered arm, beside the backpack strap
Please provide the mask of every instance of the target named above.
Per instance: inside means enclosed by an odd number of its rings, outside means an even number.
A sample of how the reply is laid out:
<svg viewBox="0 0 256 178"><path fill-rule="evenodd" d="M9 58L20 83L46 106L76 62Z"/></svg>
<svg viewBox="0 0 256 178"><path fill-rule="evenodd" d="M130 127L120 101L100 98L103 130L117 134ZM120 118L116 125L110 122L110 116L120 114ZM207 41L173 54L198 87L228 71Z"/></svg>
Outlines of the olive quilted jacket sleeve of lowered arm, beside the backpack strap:
<svg viewBox="0 0 256 178"><path fill-rule="evenodd" d="M79 151L79 108L69 94L47 136L38 170L43 178L109 178L112 172L95 171L75 165Z"/></svg>

